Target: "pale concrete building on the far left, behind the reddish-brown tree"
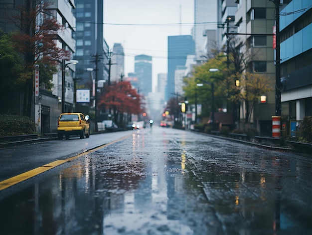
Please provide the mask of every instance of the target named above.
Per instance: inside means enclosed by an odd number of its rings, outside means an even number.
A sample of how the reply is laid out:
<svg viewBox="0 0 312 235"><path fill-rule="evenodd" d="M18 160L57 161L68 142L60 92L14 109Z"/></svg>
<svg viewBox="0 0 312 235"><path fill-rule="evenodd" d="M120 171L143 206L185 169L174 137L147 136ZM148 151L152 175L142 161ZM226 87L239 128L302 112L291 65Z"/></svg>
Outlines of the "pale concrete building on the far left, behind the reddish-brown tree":
<svg viewBox="0 0 312 235"><path fill-rule="evenodd" d="M45 1L43 1L45 2ZM34 6L35 1L27 1L30 6ZM73 34L76 29L76 19L73 14L75 10L74 0L49 0L48 7L37 18L37 25L40 25L40 21L47 17L54 17L57 21L64 26L63 30L55 35L55 43L58 47L75 52L75 39ZM9 17L13 11L17 12L18 7L25 4L24 0L7 0L0 2L0 27L5 32L17 30L16 26ZM34 58L35 59L35 58ZM38 98L35 98L35 104L32 105L31 116L35 120L35 128L39 134L56 132L57 121L61 113L61 101L62 99L62 61L59 61L58 72L53 75L53 88L52 91L46 90L44 87L39 87ZM69 111L73 107L73 76L75 66L73 63L67 62L65 72L65 107ZM40 79L40 75L39 75ZM3 94L2 94L3 95ZM22 99L21 94L12 94L14 97ZM14 99L12 99L13 101ZM11 102L11 106L13 106ZM18 105L18 104L17 104ZM20 105L20 104L19 104ZM17 115L24 115L21 107L16 107ZM39 122L38 122L39 120Z"/></svg>

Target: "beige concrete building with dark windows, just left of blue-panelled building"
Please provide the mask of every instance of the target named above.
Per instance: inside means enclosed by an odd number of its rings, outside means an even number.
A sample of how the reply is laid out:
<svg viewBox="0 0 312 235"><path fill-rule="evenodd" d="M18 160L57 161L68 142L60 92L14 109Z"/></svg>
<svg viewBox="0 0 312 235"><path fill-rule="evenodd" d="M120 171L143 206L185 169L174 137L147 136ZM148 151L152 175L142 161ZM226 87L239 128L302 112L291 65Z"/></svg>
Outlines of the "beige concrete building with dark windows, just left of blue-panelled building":
<svg viewBox="0 0 312 235"><path fill-rule="evenodd" d="M259 73L270 79L271 92L266 94L266 103L254 105L250 122L260 135L272 135L272 116L275 115L275 64L272 28L275 22L275 5L271 1L236 0L235 25L237 35L245 43L248 55L246 72ZM246 106L240 107L241 124L246 118Z"/></svg>

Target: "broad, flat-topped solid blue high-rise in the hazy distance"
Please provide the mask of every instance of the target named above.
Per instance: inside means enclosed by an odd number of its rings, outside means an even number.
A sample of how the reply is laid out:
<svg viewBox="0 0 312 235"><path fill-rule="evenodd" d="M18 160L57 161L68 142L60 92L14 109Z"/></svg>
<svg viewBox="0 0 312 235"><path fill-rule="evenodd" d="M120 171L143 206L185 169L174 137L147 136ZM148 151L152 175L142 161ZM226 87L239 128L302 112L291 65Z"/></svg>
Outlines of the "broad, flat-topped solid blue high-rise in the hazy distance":
<svg viewBox="0 0 312 235"><path fill-rule="evenodd" d="M177 66L185 66L187 55L195 54L195 42L191 35L168 36L168 77L165 101L174 96L174 73Z"/></svg>

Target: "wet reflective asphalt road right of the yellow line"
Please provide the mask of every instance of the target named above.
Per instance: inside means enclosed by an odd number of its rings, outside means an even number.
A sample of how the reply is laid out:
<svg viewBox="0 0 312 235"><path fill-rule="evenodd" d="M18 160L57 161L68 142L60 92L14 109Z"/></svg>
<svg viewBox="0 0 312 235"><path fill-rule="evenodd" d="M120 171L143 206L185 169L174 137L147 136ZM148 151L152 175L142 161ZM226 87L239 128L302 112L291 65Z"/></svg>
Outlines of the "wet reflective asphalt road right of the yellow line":
<svg viewBox="0 0 312 235"><path fill-rule="evenodd" d="M129 133L4 190L0 234L312 234L311 158L169 128Z"/></svg>

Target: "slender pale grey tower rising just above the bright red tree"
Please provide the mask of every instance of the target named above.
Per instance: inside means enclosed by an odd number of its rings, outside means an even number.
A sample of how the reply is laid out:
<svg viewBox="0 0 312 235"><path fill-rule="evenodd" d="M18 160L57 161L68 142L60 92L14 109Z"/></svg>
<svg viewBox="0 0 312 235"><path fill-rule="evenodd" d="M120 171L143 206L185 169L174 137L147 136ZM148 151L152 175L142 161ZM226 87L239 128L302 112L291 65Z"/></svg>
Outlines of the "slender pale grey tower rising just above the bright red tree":
<svg viewBox="0 0 312 235"><path fill-rule="evenodd" d="M119 81L125 75L125 54L121 43L115 43L113 47L111 81Z"/></svg>

